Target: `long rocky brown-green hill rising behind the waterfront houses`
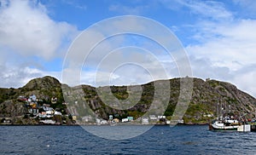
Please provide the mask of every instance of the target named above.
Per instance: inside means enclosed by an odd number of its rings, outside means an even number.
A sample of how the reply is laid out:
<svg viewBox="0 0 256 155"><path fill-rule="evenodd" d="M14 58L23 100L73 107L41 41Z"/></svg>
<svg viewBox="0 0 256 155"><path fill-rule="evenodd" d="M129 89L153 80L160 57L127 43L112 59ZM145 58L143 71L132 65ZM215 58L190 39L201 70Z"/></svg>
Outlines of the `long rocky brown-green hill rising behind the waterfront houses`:
<svg viewBox="0 0 256 155"><path fill-rule="evenodd" d="M167 118L172 118L177 100L180 97L180 80L181 78L163 80L162 82L170 83L171 87L170 91L168 91L170 95L163 94L160 100L154 100L154 82L146 83L139 87L130 86L128 89L126 86L111 86L110 89L114 98L108 98L112 104L109 106L104 104L106 100L101 99L95 87L81 85L70 88L67 85L61 84L55 78L35 78L19 89L0 89L0 118L15 118L25 115L27 111L26 106L24 106L24 102L17 99L19 96L28 95L37 95L41 99L41 104L50 104L50 99L55 96L58 98L59 105L64 101L70 102L70 106L67 106L67 108L71 114L81 115L81 113L84 113L82 115L86 116L86 112L90 112L104 119L108 119L109 115L114 115L116 118L125 118L127 116L140 118L154 105L154 101L169 100L164 115ZM235 85L210 79L204 81L200 78L192 78L192 80L194 83L192 99L189 101L189 108L183 116L185 123L207 123L209 119L217 116L218 103L223 107L224 112L237 116L247 113L248 118L255 118L256 100L253 96L237 89ZM132 100L126 100L129 97L128 91L129 89L137 88L142 88L143 91L141 97L137 100L137 104L132 105ZM66 89L64 92L66 93L64 94L66 96L65 100L62 89ZM105 87L101 89L105 89ZM165 89L164 86L161 89ZM77 101L75 97L70 97L72 94L82 95L83 100L81 102L85 104L82 103L80 106L74 106L74 104L77 104ZM124 107L124 110L114 108L114 106L120 103L118 100L125 100L125 104L129 108ZM75 108L72 109L71 107Z"/></svg>

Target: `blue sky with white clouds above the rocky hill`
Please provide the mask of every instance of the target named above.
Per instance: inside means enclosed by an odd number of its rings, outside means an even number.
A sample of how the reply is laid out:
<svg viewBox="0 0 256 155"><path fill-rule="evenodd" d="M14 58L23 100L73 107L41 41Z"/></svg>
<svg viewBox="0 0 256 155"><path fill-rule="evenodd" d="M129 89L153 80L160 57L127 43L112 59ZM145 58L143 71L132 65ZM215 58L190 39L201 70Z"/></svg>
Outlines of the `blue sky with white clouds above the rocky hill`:
<svg viewBox="0 0 256 155"><path fill-rule="evenodd" d="M173 32L186 51L194 77L234 83L256 97L255 10L254 0L0 0L0 87L18 88L45 75L61 81L69 60L67 51L81 32L102 20L137 15ZM111 26L143 30L135 20ZM160 34L151 25L144 27ZM104 37L103 33L95 31L88 41ZM73 54L70 60L84 60L73 69L80 72L79 83L122 85L183 76L175 58L166 54L154 40L122 34L97 44L86 58Z"/></svg>

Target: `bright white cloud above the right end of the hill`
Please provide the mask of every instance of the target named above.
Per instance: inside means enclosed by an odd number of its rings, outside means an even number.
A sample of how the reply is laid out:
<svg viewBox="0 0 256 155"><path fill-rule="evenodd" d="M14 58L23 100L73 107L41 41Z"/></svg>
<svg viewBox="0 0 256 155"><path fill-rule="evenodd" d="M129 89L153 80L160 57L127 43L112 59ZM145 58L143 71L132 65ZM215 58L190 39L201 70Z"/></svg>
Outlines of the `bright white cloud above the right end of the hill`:
<svg viewBox="0 0 256 155"><path fill-rule="evenodd" d="M190 55L207 57L213 65L237 70L255 63L256 20L238 20L230 24L216 24L204 43L187 47ZM198 26L200 29L204 25ZM207 33L207 32L203 32ZM203 38L204 36L201 35Z"/></svg>

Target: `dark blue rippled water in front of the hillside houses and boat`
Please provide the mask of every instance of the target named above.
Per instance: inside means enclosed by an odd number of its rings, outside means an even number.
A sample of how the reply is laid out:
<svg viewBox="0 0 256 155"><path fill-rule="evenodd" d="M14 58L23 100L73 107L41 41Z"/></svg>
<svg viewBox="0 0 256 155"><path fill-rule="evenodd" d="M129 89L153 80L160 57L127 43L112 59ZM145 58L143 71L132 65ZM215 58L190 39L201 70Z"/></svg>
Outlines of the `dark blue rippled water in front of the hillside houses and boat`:
<svg viewBox="0 0 256 155"><path fill-rule="evenodd" d="M115 131L125 126L94 126ZM137 129L143 126L137 126ZM131 130L134 132L135 129ZM129 133L127 133L129 134ZM154 126L143 135L107 140L80 126L0 126L2 154L256 154L256 133L212 132L206 125Z"/></svg>

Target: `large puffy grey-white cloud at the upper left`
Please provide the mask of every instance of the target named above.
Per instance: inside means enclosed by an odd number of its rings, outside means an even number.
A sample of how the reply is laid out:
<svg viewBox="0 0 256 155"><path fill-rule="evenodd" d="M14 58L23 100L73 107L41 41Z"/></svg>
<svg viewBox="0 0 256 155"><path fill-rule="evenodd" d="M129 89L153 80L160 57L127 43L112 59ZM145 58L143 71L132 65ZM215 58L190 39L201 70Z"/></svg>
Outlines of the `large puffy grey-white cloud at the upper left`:
<svg viewBox="0 0 256 155"><path fill-rule="evenodd" d="M8 47L24 56L46 60L56 56L61 42L72 37L76 28L55 22L40 3L3 1L0 8L0 48Z"/></svg>

